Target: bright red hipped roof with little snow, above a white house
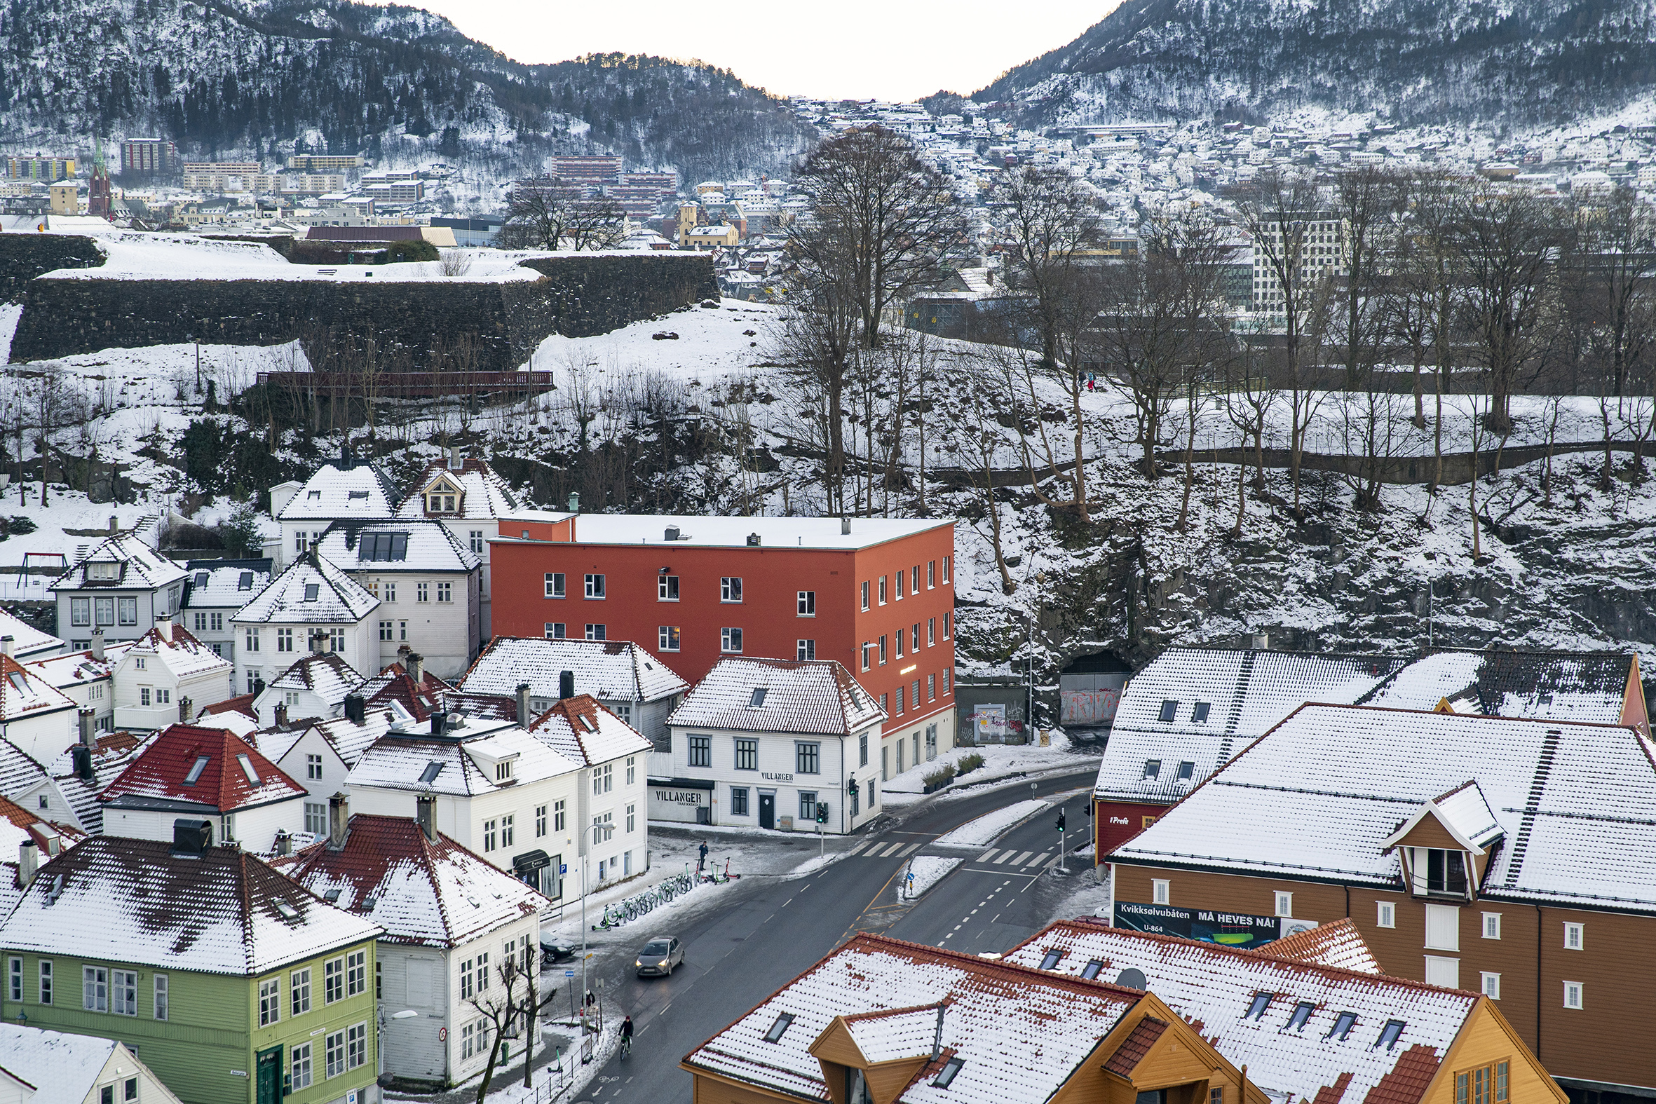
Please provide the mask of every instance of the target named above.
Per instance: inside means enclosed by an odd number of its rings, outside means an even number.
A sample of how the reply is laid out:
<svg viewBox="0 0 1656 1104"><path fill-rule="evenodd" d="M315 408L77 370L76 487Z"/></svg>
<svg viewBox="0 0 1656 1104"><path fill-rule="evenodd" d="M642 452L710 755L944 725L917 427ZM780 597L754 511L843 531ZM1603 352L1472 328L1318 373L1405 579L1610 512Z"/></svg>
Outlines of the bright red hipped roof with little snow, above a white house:
<svg viewBox="0 0 1656 1104"><path fill-rule="evenodd" d="M240 756L258 781L248 778ZM207 760L194 783L187 781L199 758ZM131 766L98 794L106 803L161 799L200 804L220 813L303 798L298 785L275 763L227 728L171 725L144 748Z"/></svg>

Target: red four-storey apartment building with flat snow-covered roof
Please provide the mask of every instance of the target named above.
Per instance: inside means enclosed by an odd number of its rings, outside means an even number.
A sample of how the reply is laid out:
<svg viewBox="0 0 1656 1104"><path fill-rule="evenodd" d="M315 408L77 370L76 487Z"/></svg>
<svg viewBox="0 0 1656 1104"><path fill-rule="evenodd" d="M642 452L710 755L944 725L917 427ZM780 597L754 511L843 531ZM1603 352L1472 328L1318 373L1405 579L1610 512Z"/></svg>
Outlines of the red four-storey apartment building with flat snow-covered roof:
<svg viewBox="0 0 1656 1104"><path fill-rule="evenodd" d="M729 655L836 659L888 748L954 746L954 521L538 513L490 545L497 636L634 641L692 684Z"/></svg>

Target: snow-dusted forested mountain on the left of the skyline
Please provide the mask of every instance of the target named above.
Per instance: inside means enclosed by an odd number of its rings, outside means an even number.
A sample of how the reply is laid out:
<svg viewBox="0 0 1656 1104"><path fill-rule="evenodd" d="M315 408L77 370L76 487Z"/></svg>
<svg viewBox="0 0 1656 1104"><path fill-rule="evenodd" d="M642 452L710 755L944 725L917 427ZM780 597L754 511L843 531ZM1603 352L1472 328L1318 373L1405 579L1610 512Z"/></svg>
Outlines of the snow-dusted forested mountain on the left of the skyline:
<svg viewBox="0 0 1656 1104"><path fill-rule="evenodd" d="M485 159L608 151L686 179L772 169L802 144L787 106L727 71L661 58L520 65L409 7L333 0L8 0L0 142L79 149L172 137L185 156L310 149Z"/></svg>

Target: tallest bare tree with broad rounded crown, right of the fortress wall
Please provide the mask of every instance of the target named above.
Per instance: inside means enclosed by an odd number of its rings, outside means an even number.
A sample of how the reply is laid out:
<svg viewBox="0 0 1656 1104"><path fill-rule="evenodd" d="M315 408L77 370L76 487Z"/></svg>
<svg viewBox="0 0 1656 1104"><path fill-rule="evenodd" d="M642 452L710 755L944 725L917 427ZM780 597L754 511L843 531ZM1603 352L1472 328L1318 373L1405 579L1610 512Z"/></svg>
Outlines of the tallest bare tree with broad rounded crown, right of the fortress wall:
<svg viewBox="0 0 1656 1104"><path fill-rule="evenodd" d="M947 182L906 137L869 126L821 142L795 185L810 200L788 228L795 278L836 285L856 306L858 339L878 346L886 310L932 285L964 243Z"/></svg>

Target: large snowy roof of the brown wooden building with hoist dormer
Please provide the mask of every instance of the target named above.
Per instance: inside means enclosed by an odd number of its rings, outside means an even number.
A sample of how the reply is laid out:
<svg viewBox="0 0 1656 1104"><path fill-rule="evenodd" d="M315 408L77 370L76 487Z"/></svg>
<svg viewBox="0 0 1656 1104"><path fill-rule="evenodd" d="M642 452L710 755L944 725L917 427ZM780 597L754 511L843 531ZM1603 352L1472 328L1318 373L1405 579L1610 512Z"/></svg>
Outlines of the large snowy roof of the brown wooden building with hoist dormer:
<svg viewBox="0 0 1656 1104"><path fill-rule="evenodd" d="M1386 841L1469 780L1515 841L1480 897L1656 912L1656 745L1613 725L1305 705L1111 857L1401 889Z"/></svg>

